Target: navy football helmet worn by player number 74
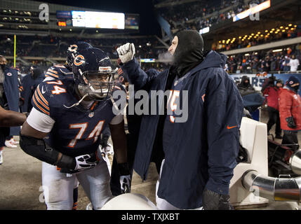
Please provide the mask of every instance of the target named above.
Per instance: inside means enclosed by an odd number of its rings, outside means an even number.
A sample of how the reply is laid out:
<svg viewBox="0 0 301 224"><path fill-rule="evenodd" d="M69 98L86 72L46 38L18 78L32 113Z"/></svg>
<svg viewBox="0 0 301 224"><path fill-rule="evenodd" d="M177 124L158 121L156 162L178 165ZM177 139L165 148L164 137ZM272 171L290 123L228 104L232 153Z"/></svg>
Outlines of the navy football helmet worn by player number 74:
<svg viewBox="0 0 301 224"><path fill-rule="evenodd" d="M107 54L99 48L86 48L76 51L72 71L81 94L90 99L109 99L118 74Z"/></svg>

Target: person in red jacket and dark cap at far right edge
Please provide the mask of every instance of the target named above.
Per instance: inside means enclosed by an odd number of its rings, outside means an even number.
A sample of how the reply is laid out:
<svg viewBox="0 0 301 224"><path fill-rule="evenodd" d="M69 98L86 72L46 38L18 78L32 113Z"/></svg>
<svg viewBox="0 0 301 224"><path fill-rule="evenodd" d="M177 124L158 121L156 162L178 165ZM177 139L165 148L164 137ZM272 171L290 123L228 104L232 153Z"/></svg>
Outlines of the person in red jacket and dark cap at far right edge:
<svg viewBox="0 0 301 224"><path fill-rule="evenodd" d="M297 131L301 130L301 97L297 94L300 80L290 76L286 86L279 92L279 113L281 129L283 130L282 144L298 144ZM297 150L299 146L291 146Z"/></svg>

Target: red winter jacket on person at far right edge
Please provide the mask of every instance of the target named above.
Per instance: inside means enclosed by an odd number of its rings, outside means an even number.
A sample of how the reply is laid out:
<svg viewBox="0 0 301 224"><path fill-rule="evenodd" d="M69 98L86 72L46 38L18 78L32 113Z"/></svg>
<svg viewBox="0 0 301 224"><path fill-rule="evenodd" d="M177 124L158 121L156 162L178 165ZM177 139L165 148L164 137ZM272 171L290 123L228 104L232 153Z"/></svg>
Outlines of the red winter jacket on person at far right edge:
<svg viewBox="0 0 301 224"><path fill-rule="evenodd" d="M279 91L279 113L282 130L301 130L301 97L293 90L284 87ZM296 128L288 127L286 118L293 116Z"/></svg>

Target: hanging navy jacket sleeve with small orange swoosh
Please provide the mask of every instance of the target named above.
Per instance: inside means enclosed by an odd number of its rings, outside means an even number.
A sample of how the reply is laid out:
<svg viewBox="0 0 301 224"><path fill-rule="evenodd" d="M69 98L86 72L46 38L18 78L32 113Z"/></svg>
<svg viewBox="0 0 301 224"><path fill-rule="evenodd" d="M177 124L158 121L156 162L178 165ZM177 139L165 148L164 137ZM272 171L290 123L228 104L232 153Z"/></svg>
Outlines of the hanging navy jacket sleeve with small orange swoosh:
<svg viewBox="0 0 301 224"><path fill-rule="evenodd" d="M239 153L239 128L243 102L234 82L224 71L208 81L205 111L208 139L208 182L206 188L229 195L229 183Z"/></svg>

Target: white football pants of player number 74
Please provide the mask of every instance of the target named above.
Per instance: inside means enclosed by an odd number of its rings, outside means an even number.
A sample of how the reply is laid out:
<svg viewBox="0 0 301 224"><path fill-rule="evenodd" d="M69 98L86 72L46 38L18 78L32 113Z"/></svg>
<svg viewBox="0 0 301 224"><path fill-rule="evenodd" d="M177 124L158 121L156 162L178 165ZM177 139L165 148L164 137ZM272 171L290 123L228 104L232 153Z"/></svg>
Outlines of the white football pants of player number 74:
<svg viewBox="0 0 301 224"><path fill-rule="evenodd" d="M72 209L76 179L92 202L93 209L101 209L107 201L112 199L107 163L101 155L98 155L98 158L100 158L100 162L92 169L71 175L63 174L57 167L43 162L42 184L48 210Z"/></svg>

